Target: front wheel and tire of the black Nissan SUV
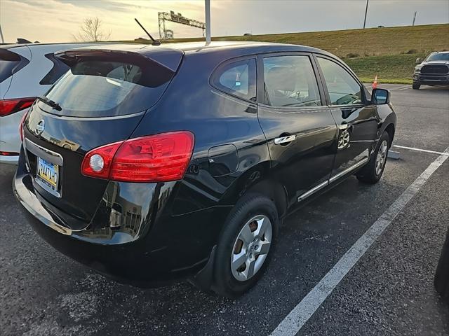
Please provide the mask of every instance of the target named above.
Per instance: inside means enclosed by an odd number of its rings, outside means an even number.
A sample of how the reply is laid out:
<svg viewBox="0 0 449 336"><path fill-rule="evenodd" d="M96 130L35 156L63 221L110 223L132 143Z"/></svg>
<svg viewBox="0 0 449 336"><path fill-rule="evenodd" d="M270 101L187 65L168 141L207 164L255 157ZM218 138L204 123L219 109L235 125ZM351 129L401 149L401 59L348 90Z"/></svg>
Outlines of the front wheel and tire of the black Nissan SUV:
<svg viewBox="0 0 449 336"><path fill-rule="evenodd" d="M384 132L382 137L380 137L377 142L375 151L371 155L370 161L356 174L358 181L374 184L380 180L387 162L389 147L389 135L387 132Z"/></svg>

